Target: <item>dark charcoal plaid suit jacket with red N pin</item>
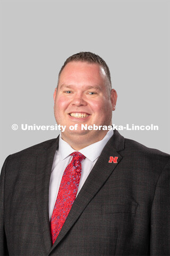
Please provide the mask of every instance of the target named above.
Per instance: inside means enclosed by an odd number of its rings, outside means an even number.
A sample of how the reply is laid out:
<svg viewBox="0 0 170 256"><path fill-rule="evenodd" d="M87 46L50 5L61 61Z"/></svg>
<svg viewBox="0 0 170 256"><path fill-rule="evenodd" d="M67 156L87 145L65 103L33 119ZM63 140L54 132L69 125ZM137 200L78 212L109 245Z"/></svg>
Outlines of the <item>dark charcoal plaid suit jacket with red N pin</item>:
<svg viewBox="0 0 170 256"><path fill-rule="evenodd" d="M48 191L57 146L58 138L7 157L1 255L169 255L169 155L117 131L52 246Z"/></svg>

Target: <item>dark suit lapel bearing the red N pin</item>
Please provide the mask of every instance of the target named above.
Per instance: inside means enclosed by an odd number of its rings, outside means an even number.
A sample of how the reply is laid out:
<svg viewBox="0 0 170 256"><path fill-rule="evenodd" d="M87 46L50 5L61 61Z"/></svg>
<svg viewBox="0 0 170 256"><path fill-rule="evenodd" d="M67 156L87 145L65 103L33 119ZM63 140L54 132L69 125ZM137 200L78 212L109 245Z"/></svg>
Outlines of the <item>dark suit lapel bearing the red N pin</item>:
<svg viewBox="0 0 170 256"><path fill-rule="evenodd" d="M120 163L122 156L118 154L117 151L122 150L123 146L124 138L117 131L114 131L113 137L107 142L86 182L84 182L84 185L75 199L71 211L49 253L52 252L58 243L60 243L92 198L94 198L99 189L112 174L118 163ZM118 157L117 163L109 163L110 156Z"/></svg>

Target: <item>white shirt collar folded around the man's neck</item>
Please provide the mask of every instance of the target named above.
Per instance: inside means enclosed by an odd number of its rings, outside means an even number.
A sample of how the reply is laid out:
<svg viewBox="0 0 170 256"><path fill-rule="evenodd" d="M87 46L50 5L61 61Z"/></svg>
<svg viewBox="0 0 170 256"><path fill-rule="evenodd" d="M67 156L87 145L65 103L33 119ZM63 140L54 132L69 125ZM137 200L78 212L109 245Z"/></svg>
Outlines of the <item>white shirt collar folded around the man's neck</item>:
<svg viewBox="0 0 170 256"><path fill-rule="evenodd" d="M102 140L92 143L86 148L82 148L81 150L79 150L79 152L84 156L86 156L91 162L94 162L96 158L99 157L99 155L101 154L101 151L105 147L107 141L112 137L112 135L113 135L113 130L108 131ZM61 138L61 134L60 134L59 145L58 145L58 153L59 153L60 160L61 161L64 160L67 156L72 154L74 151L77 151L77 150L74 150L66 141L64 141Z"/></svg>

